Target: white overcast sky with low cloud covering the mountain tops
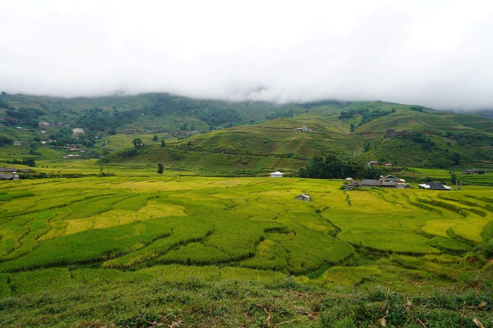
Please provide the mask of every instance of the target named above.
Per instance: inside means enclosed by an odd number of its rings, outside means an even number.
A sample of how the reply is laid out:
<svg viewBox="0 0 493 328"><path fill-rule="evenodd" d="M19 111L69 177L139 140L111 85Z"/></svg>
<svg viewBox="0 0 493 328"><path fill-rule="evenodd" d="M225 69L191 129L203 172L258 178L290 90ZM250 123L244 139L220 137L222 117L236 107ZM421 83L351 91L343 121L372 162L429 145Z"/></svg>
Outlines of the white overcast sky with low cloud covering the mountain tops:
<svg viewBox="0 0 493 328"><path fill-rule="evenodd" d="M493 108L492 1L0 0L0 90Z"/></svg>

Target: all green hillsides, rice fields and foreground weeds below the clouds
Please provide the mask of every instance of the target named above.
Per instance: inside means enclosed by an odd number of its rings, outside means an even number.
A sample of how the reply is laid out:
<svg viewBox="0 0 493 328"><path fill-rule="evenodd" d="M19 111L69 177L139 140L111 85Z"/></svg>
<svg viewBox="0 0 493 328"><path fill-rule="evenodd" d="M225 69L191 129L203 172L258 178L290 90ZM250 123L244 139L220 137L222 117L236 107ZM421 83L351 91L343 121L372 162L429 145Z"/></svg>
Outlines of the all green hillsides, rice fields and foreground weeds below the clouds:
<svg viewBox="0 0 493 328"><path fill-rule="evenodd" d="M1 97L2 327L493 327L490 119ZM340 189L386 174L461 189Z"/></svg>

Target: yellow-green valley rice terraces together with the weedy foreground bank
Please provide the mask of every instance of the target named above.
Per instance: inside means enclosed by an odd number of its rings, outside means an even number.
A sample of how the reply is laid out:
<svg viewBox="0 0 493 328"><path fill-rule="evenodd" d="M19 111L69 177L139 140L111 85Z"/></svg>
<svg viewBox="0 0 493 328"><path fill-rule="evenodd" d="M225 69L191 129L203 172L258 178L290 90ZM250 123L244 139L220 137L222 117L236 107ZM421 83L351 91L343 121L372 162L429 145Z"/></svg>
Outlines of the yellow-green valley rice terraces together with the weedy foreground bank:
<svg viewBox="0 0 493 328"><path fill-rule="evenodd" d="M493 189L341 184L2 182L0 326L493 326Z"/></svg>

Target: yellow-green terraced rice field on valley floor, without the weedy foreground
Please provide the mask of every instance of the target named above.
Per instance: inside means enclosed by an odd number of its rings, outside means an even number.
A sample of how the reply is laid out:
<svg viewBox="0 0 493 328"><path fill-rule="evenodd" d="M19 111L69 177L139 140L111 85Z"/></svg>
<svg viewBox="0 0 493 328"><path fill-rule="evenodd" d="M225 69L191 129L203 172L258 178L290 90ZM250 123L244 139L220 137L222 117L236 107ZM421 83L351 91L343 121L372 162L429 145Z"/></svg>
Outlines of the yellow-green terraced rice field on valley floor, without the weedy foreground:
<svg viewBox="0 0 493 328"><path fill-rule="evenodd" d="M418 280L478 270L464 259L491 238L493 189L343 192L341 184L160 175L2 182L0 272L219 265L225 277L257 269L351 285L386 283L388 265L417 269ZM295 199L303 192L311 202ZM369 262L372 254L380 260Z"/></svg>

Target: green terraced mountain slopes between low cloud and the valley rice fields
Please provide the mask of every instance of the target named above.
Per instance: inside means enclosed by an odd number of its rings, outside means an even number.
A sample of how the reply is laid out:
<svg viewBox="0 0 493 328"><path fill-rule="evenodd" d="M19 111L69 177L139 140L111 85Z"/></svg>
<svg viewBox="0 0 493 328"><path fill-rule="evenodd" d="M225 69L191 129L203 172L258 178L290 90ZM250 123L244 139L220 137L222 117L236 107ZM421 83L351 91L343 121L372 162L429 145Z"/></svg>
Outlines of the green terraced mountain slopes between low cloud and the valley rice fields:
<svg viewBox="0 0 493 328"><path fill-rule="evenodd" d="M159 162L204 174L256 175L292 173L314 156L327 155L419 167L467 164L488 170L493 164L493 120L418 105L235 103L167 93L73 99L4 94L0 100L0 141L24 138L36 145L50 136L59 147L82 144L88 148L84 156L104 156L100 164L106 165ZM69 128L45 128L43 136L39 121ZM72 136L72 127L85 134ZM301 127L311 131L298 132ZM165 147L157 134L166 139ZM132 147L136 136L148 138L144 147ZM48 156L43 147L29 150L43 159Z"/></svg>

